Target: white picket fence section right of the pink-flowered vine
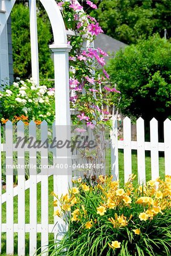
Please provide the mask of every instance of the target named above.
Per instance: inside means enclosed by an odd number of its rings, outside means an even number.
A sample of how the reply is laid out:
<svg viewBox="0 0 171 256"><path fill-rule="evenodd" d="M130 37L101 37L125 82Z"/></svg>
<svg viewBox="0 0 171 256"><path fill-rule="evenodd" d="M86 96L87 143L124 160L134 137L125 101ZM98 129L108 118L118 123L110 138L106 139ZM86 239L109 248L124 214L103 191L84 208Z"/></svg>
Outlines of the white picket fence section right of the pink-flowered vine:
<svg viewBox="0 0 171 256"><path fill-rule="evenodd" d="M112 119L111 130L111 174L119 179L118 150L124 154L124 182L132 174L132 150L137 151L137 175L139 183L145 182L145 151L151 152L151 177L159 177L159 151L164 152L165 175L171 175L171 121L164 122L164 142L159 142L158 122L153 118L150 122L150 142L145 142L144 120L136 121L136 141L131 141L131 119L123 120L123 141L118 140L116 118Z"/></svg>

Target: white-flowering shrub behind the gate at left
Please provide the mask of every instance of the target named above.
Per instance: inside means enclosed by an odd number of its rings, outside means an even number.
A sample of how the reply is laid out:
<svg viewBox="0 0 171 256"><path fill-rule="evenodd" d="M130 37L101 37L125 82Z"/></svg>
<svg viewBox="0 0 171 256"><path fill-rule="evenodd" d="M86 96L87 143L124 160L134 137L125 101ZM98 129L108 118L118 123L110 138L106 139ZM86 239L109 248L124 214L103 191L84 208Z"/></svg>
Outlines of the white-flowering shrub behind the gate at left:
<svg viewBox="0 0 171 256"><path fill-rule="evenodd" d="M32 80L14 82L0 92L3 108L0 120L5 123L7 119L16 121L16 117L26 116L22 121L43 120L51 123L55 116L54 90L47 86L37 86ZM18 119L18 121L20 120ZM27 124L27 123L26 123Z"/></svg>

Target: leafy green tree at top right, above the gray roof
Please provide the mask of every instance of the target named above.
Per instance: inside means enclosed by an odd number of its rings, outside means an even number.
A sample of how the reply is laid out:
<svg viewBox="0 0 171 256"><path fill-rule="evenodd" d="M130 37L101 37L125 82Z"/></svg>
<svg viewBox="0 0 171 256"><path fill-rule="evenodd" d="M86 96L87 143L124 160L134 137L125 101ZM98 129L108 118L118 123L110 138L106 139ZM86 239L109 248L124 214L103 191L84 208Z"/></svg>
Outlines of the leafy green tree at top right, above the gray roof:
<svg viewBox="0 0 171 256"><path fill-rule="evenodd" d="M170 0L102 0L95 17L107 35L124 43L136 43L164 29L171 35Z"/></svg>

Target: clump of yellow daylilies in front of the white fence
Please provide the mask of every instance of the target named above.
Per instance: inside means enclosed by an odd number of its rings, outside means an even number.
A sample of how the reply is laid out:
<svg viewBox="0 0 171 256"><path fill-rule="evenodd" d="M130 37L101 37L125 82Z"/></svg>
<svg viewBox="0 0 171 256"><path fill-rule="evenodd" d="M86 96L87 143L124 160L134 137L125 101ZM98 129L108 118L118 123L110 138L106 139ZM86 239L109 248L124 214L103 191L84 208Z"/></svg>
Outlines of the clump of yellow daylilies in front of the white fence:
<svg viewBox="0 0 171 256"><path fill-rule="evenodd" d="M69 193L56 197L55 215L68 222L68 233L52 255L170 255L171 176L135 188L111 177L86 184L79 178Z"/></svg>

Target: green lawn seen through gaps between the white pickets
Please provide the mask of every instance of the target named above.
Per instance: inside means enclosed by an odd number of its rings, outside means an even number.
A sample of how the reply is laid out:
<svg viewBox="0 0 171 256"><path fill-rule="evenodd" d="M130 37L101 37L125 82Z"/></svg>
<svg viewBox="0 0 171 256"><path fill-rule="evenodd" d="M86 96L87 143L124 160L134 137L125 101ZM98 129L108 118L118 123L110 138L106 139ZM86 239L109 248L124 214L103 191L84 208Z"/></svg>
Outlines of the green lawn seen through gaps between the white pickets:
<svg viewBox="0 0 171 256"><path fill-rule="evenodd" d="M145 166L146 166L146 179L151 179L151 158L147 154L145 156ZM107 173L110 174L110 150L107 150L106 156L106 170ZM160 168L160 176L164 177L164 158L159 158L159 168ZM137 175L137 155L135 151L132 151L132 173ZM121 185L124 183L124 159L123 159L123 150L119 150L119 179ZM135 183L137 183L137 177L135 179ZM53 191L53 178L49 177L49 224L53 223L53 197L50 195ZM3 191L5 192L5 191ZM30 204L29 204L29 189L26 190L26 223L29 223L30 216ZM14 223L18 223L18 196L14 197ZM41 223L41 184L37 184L37 223ZM2 205L2 223L6 222L6 203ZM52 234L49 234L49 240L52 240ZM15 255L17 255L17 234L15 233ZM37 234L37 247L40 247L40 233ZM2 234L2 254L6 255L6 234ZM28 255L29 251L29 234L26 234L26 255Z"/></svg>

